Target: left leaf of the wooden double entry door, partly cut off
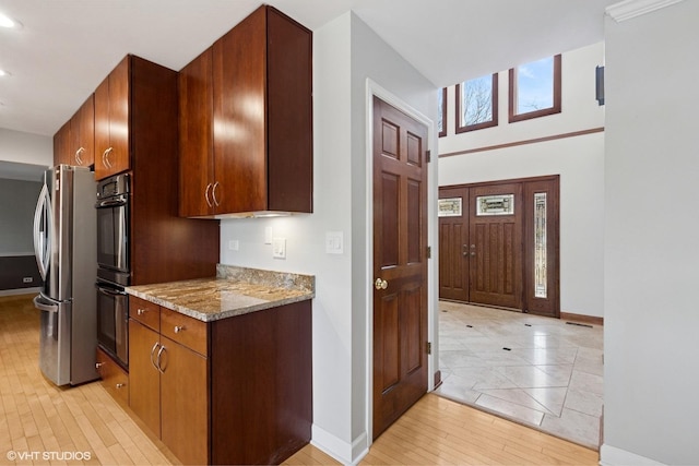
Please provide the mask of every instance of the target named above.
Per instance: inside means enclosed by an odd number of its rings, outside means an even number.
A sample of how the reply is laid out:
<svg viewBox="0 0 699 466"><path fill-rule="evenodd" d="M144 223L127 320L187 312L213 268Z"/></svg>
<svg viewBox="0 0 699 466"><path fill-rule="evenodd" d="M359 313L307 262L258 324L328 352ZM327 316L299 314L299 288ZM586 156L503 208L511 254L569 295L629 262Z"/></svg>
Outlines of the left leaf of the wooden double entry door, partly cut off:
<svg viewBox="0 0 699 466"><path fill-rule="evenodd" d="M439 298L469 301L469 188L439 190Z"/></svg>

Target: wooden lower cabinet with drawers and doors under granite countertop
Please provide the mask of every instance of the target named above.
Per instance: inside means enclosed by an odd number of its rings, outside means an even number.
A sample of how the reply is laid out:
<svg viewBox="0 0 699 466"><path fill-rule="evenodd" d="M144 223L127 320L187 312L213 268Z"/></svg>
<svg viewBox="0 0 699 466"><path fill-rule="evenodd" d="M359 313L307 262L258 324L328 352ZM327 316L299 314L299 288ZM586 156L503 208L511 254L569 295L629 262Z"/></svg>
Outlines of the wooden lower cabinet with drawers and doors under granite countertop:
<svg viewBox="0 0 699 466"><path fill-rule="evenodd" d="M161 308L159 332L142 318L131 409L183 464L280 464L310 441L311 301L210 323Z"/></svg>

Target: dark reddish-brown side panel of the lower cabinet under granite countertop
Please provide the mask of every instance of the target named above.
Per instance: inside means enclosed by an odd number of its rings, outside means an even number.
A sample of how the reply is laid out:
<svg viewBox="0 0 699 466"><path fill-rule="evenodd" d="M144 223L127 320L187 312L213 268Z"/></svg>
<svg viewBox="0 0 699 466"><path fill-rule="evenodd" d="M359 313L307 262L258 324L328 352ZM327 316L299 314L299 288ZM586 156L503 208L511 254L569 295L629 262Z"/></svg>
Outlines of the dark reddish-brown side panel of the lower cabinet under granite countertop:
<svg viewBox="0 0 699 466"><path fill-rule="evenodd" d="M216 321L211 350L213 464L279 464L310 441L310 301Z"/></svg>

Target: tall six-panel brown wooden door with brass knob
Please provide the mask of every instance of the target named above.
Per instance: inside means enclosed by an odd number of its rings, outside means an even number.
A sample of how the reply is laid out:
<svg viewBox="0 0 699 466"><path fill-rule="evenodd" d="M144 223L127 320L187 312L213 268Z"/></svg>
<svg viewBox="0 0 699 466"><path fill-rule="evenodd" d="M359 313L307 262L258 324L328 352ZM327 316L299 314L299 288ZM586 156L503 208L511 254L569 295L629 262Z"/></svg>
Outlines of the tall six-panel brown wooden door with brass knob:
<svg viewBox="0 0 699 466"><path fill-rule="evenodd" d="M374 438L427 392L427 128L374 97Z"/></svg>

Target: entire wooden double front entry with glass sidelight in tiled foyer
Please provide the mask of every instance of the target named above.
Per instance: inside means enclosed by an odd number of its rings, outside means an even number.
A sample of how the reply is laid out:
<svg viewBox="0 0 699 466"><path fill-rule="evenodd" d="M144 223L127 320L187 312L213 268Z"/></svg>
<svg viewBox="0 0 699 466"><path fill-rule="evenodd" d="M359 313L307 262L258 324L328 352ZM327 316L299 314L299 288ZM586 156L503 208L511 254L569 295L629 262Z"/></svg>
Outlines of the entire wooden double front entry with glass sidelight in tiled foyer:
<svg viewBox="0 0 699 466"><path fill-rule="evenodd" d="M559 177L439 189L439 298L558 318Z"/></svg>

